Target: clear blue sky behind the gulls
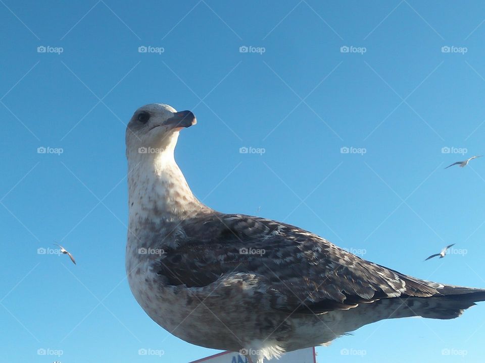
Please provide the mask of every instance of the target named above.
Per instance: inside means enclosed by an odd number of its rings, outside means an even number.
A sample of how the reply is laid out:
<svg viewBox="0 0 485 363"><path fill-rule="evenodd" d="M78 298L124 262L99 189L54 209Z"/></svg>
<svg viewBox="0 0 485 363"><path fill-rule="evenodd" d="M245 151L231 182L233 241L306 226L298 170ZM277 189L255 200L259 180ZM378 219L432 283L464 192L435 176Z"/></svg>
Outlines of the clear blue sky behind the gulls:
<svg viewBox="0 0 485 363"><path fill-rule="evenodd" d="M176 159L211 207L485 287L485 159L444 170L485 153L482 2L0 3L0 349L10 362L216 352L152 322L125 279L125 124L151 102L196 114ZM38 253L54 241L76 266ZM484 338L482 303L452 321L369 325L317 353L478 362ZM138 355L149 348L164 355Z"/></svg>

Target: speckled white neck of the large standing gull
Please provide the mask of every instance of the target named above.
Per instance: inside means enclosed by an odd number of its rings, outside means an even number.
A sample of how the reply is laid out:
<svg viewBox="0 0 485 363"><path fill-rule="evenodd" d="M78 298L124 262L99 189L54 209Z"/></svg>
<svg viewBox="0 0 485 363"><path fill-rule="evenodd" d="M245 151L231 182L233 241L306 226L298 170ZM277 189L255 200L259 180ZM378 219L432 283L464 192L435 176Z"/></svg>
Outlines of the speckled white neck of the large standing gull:
<svg viewBox="0 0 485 363"><path fill-rule="evenodd" d="M182 220L208 209L192 194L173 149L139 156L128 162L130 219Z"/></svg>

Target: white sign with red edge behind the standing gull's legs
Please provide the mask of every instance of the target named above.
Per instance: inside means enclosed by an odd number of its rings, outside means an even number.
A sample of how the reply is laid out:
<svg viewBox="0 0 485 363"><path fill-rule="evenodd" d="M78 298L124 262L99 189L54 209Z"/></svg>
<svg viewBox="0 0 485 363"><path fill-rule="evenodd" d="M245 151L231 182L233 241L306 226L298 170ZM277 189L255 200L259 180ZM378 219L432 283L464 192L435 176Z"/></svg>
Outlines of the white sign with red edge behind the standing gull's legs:
<svg viewBox="0 0 485 363"><path fill-rule="evenodd" d="M264 363L317 363L315 357L315 348L305 348L285 353L281 358L264 360ZM190 363L249 363L247 357L230 351L222 352L219 354L208 356L194 360Z"/></svg>

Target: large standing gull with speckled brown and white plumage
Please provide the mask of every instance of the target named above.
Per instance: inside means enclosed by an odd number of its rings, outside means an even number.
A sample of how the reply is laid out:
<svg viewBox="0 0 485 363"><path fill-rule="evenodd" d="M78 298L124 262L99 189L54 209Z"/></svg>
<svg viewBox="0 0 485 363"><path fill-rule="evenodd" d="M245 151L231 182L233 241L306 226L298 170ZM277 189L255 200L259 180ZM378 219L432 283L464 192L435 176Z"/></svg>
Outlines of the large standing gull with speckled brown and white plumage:
<svg viewBox="0 0 485 363"><path fill-rule="evenodd" d="M485 289L421 280L302 228L204 205L174 159L180 130L194 124L190 111L148 104L126 130L127 278L175 336L262 363L383 319L453 319L485 300Z"/></svg>

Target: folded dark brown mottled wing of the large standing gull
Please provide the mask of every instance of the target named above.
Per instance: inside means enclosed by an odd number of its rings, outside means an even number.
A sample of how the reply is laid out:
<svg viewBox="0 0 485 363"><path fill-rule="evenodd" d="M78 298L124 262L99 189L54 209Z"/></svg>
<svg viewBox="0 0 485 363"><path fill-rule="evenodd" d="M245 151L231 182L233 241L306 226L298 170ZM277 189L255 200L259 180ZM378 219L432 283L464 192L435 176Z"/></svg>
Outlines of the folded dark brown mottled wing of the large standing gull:
<svg viewBox="0 0 485 363"><path fill-rule="evenodd" d="M154 262L164 284L193 291L248 286L275 310L323 313L380 298L430 296L442 287L264 218L214 212L182 222L173 234L172 247Z"/></svg>

